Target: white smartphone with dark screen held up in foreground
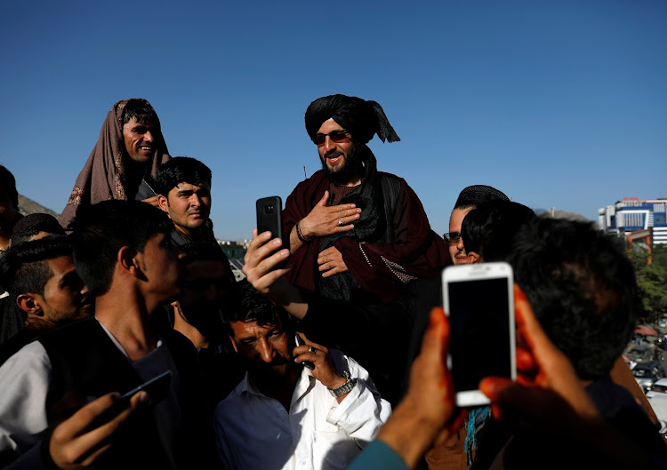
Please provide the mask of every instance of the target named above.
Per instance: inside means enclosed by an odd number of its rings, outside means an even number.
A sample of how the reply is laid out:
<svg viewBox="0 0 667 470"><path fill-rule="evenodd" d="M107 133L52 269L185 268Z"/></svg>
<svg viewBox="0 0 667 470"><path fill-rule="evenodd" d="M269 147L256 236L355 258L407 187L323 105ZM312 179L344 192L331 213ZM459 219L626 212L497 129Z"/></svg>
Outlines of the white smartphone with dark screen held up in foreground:
<svg viewBox="0 0 667 470"><path fill-rule="evenodd" d="M486 405L478 389L482 378L517 378L512 268L505 262L446 267L442 292L456 405Z"/></svg>

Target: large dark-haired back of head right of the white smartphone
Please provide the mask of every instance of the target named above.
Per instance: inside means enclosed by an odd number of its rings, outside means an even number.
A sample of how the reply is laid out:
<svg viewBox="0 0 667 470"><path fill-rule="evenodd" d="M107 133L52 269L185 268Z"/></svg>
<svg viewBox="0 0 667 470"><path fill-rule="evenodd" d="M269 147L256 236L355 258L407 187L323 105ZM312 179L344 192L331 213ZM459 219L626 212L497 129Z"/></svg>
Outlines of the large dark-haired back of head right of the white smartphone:
<svg viewBox="0 0 667 470"><path fill-rule="evenodd" d="M642 314L630 259L592 223L536 219L510 264L542 328L580 378L606 376Z"/></svg>

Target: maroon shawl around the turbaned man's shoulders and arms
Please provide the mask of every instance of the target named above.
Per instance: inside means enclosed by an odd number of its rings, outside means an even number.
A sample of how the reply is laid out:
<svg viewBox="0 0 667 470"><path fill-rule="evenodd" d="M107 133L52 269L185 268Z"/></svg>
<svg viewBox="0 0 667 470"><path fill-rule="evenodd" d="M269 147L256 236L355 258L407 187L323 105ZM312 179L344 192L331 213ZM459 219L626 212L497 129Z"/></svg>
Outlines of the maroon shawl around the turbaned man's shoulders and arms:
<svg viewBox="0 0 667 470"><path fill-rule="evenodd" d="M396 233L394 243L358 240L353 230L348 233L350 236L335 240L333 246L341 251L350 274L361 289L373 293L381 301L388 301L404 291L406 283L415 277L439 275L449 260L449 251L443 239L430 229L422 203L405 179L380 171L377 174L400 182L401 194L393 223L396 225L397 220L402 219L400 226L403 228ZM296 222L309 214L327 189L329 180L321 170L294 188L283 211L286 239ZM382 204L378 205L382 211ZM365 208L361 209L363 214ZM301 246L290 259L292 269L287 275L288 279L301 287L320 291L317 288L321 276L317 270L319 251L318 238Z"/></svg>

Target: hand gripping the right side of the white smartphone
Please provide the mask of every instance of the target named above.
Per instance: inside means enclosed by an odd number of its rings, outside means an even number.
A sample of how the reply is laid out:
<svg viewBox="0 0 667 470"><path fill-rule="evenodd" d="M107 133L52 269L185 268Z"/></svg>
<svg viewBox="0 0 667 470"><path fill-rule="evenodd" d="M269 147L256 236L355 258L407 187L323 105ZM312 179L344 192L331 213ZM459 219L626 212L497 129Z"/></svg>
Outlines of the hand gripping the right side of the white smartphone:
<svg viewBox="0 0 667 470"><path fill-rule="evenodd" d="M545 435L567 435L581 444L600 467L653 468L655 462L647 452L600 417L572 363L542 330L517 284L514 301L518 328L517 381L487 377L479 383L479 389L492 402L494 418L502 419L511 411ZM577 460L581 456L574 457ZM574 460L572 463L575 465Z"/></svg>

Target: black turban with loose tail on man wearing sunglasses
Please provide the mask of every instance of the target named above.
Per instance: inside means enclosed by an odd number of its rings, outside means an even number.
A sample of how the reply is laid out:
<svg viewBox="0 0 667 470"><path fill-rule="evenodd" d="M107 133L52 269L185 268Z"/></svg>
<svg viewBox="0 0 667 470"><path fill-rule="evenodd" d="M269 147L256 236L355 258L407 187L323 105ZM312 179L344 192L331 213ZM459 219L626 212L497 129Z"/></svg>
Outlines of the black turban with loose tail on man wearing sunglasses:
<svg viewBox="0 0 667 470"><path fill-rule="evenodd" d="M352 139L366 144L377 136L382 142L400 140L382 107L375 101L366 101L355 96L330 95L318 98L306 109L306 131L315 141L317 131L328 119L339 123L350 132Z"/></svg>

